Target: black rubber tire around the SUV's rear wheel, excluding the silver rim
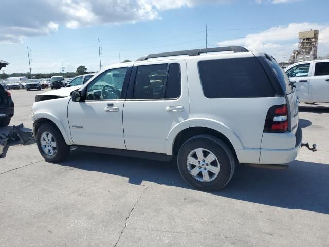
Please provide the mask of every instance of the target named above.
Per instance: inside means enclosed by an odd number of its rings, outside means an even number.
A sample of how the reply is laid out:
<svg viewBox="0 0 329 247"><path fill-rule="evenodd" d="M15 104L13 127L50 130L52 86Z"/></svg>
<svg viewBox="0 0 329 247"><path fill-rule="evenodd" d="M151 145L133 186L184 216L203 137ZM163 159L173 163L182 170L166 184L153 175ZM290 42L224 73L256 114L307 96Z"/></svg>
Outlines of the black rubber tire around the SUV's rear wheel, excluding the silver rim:
<svg viewBox="0 0 329 247"><path fill-rule="evenodd" d="M187 158L189 154L197 148L209 150L218 160L220 172L217 177L210 182L198 181L189 172ZM232 150L225 142L223 142L223 140L211 135L197 135L188 139L180 147L177 157L177 165L181 177L192 187L206 191L220 190L227 185L233 177L235 164L236 160Z"/></svg>

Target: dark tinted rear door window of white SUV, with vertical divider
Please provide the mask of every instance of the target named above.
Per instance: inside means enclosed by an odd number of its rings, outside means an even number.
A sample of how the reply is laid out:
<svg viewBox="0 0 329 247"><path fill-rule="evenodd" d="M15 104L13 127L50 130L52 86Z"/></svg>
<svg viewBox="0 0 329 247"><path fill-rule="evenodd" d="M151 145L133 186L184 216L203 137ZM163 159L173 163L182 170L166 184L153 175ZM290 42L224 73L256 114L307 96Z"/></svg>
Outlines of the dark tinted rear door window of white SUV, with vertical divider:
<svg viewBox="0 0 329 247"><path fill-rule="evenodd" d="M180 91L178 63L138 66L133 99L175 99Z"/></svg>

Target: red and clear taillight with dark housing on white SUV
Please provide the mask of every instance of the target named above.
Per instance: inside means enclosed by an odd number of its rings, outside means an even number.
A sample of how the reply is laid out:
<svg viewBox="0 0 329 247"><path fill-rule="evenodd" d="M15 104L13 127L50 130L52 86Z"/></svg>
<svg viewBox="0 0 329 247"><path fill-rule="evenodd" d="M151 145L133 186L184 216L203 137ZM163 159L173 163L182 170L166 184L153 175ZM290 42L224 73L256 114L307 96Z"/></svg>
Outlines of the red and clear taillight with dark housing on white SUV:
<svg viewBox="0 0 329 247"><path fill-rule="evenodd" d="M288 126L288 108L286 104L275 105L268 110L264 132L286 132Z"/></svg>

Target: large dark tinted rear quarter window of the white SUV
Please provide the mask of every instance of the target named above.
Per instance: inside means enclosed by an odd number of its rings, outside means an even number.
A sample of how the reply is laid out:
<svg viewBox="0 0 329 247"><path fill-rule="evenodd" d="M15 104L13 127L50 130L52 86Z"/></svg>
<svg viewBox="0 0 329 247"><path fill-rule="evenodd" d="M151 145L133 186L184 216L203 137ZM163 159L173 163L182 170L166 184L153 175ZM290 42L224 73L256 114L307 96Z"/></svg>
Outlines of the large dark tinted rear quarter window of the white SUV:
<svg viewBox="0 0 329 247"><path fill-rule="evenodd" d="M200 61L200 79L207 98L273 97L275 91L256 58Z"/></svg>

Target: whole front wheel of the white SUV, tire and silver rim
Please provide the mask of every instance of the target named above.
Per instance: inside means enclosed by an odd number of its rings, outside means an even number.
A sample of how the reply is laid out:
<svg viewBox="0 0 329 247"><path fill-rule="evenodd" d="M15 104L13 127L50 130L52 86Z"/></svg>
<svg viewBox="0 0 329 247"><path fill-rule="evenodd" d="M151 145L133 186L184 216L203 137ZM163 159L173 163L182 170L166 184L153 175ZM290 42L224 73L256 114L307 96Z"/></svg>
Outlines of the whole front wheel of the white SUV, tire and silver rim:
<svg viewBox="0 0 329 247"><path fill-rule="evenodd" d="M49 123L39 127L36 144L39 152L48 162L64 161L70 151L70 146L65 143L60 131Z"/></svg>

